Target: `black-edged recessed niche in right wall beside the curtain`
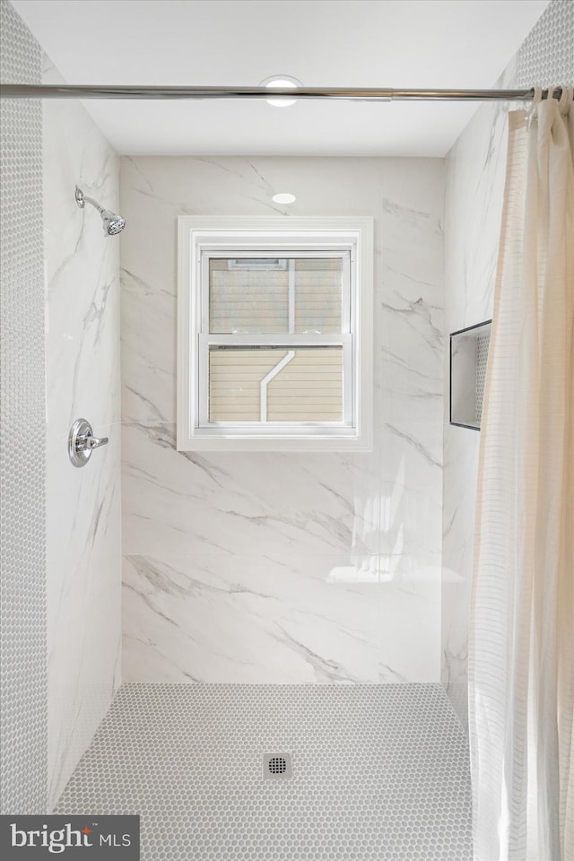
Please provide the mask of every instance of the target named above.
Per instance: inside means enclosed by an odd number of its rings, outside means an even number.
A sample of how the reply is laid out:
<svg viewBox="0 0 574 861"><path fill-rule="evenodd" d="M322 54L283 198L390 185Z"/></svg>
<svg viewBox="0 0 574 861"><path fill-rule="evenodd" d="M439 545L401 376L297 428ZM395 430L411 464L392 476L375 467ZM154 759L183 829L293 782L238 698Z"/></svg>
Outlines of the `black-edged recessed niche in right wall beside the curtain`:
<svg viewBox="0 0 574 861"><path fill-rule="evenodd" d="M450 333L450 424L480 431L491 320Z"/></svg>

